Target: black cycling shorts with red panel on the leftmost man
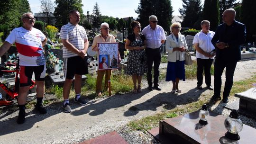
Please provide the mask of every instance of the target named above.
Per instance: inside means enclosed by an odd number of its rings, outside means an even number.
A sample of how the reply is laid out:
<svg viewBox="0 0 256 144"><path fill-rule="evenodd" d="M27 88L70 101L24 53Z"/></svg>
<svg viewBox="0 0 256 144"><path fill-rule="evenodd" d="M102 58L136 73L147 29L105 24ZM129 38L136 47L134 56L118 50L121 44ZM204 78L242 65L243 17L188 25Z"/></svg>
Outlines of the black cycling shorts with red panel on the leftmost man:
<svg viewBox="0 0 256 144"><path fill-rule="evenodd" d="M20 87L30 86L33 72L35 73L36 81L45 81L46 65L39 66L20 66L19 79Z"/></svg>

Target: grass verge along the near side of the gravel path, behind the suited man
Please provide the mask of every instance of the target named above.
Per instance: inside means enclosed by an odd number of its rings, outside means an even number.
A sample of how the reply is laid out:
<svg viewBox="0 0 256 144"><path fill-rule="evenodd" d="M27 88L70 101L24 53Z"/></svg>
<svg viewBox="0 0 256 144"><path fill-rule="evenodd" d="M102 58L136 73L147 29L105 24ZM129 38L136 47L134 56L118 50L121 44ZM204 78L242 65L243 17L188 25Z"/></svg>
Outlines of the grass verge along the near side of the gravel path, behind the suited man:
<svg viewBox="0 0 256 144"><path fill-rule="evenodd" d="M252 88L253 83L256 83L256 75L252 76L252 78L250 79L234 82L229 96L234 97L235 93L243 92L245 90ZM223 90L223 87L221 88L221 90ZM182 106L178 106L171 110L158 113L154 116L143 117L141 119L131 121L128 123L128 126L133 130L140 130L146 132L146 130L148 129L159 126L159 121L162 121L166 118L176 117L200 109L204 103L208 102L207 99L209 99L211 96L212 93L208 95L202 94L201 99L197 101Z"/></svg>

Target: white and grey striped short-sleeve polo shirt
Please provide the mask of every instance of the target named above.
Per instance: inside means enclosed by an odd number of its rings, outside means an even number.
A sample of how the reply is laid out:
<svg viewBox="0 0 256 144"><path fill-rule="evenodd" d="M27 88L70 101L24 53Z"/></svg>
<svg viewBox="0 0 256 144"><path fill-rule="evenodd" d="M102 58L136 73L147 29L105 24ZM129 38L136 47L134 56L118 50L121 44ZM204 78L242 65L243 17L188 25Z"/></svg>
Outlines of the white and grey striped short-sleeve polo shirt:
<svg viewBox="0 0 256 144"><path fill-rule="evenodd" d="M71 23L62 26L60 33L61 39L68 39L68 41L78 50L83 50L84 40L88 39L86 31L82 26L73 25ZM63 46L63 57L68 58L73 56L78 56L78 54L71 52ZM85 56L87 56L87 54L85 54Z"/></svg>

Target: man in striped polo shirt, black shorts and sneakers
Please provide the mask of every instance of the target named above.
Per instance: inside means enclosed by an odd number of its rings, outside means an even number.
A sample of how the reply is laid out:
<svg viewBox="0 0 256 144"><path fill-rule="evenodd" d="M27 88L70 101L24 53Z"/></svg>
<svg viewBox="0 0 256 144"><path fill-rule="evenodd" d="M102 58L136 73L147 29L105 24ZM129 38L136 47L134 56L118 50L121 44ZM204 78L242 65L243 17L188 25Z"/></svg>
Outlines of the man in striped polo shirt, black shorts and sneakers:
<svg viewBox="0 0 256 144"><path fill-rule="evenodd" d="M64 58L64 77L63 86L63 109L65 113L70 113L72 109L69 106L69 93L73 77L75 98L74 102L81 105L86 105L86 102L80 98L82 87L82 74L88 74L87 67L87 49L89 46L86 31L82 26L79 26L80 13L77 10L69 12L70 22L61 27L61 41L63 43L63 58Z"/></svg>

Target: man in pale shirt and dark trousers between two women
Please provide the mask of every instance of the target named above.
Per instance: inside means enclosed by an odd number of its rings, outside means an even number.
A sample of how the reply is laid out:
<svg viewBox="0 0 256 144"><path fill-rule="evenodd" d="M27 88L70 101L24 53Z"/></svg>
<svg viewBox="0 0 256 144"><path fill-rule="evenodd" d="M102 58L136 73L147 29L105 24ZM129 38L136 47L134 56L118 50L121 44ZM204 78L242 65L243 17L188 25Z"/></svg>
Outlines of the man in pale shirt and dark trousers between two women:
<svg viewBox="0 0 256 144"><path fill-rule="evenodd" d="M156 16L152 15L148 18L149 25L142 30L142 34L146 37L146 57L147 57L147 73L146 79L148 90L161 90L158 85L159 65L161 62L160 46L165 43L166 36L163 27L157 25ZM154 63L154 87L152 87L152 65Z"/></svg>

